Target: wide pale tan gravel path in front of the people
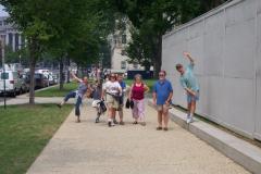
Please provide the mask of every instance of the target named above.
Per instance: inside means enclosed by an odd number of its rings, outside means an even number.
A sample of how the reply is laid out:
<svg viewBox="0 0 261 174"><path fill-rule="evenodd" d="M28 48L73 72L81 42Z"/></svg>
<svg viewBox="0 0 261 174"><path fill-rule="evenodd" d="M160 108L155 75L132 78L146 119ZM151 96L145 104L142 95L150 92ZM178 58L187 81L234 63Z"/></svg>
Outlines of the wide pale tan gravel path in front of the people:
<svg viewBox="0 0 261 174"><path fill-rule="evenodd" d="M105 116L95 124L96 112L83 108L83 122L74 112L28 170L28 174L245 174L244 167L171 122L158 132L157 113L147 107L147 126L108 127Z"/></svg>

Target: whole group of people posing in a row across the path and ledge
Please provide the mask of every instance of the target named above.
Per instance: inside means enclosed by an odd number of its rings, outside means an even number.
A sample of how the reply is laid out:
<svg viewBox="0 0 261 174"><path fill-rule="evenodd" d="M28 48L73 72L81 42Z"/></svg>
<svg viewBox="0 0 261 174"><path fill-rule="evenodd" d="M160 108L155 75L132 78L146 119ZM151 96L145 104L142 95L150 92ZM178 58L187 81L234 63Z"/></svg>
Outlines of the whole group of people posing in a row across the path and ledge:
<svg viewBox="0 0 261 174"><path fill-rule="evenodd" d="M194 74L195 61L190 53L184 52L184 57L189 60L188 66L185 69L182 64L176 64L176 71L181 74L181 85L187 94L187 123L194 122L194 113L196 110L196 102L199 100L199 85ZM88 78L78 78L76 75L72 76L79 83L77 90L71 91L61 104L61 108L70 98L76 98L75 103L75 115L77 116L76 122L80 122L79 105L83 102L83 98L86 95L92 96L95 103L100 105L107 105L108 111L108 126L112 127L115 124L124 125L123 121L123 108L124 96L127 97L126 107L130 105L133 113L133 124L146 126L145 116L145 94L150 89L142 80L140 74L135 75L133 84L127 88L123 80L122 75L110 74L104 82L101 84L99 80L94 86L88 83ZM169 109L172 103L173 88L170 80L166 79L166 72L161 71L159 73L159 79L154 83L152 89L153 104L158 111L158 127L157 130L167 130L169 124ZM96 104L94 105L96 107ZM103 110L103 111L105 111ZM119 122L116 121L116 113L119 113ZM101 112L98 112L96 123L99 123Z"/></svg>

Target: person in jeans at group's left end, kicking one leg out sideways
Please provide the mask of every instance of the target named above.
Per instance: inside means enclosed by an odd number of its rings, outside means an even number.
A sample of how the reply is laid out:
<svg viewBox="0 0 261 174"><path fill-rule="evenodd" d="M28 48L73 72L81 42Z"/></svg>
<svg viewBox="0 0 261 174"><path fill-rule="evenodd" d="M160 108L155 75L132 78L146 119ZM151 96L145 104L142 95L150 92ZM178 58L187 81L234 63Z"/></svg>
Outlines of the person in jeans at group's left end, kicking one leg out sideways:
<svg viewBox="0 0 261 174"><path fill-rule="evenodd" d="M79 105L82 104L83 101L83 97L85 96L86 91L89 87L88 85L88 77L84 77L83 79L78 78L74 73L71 73L73 78L76 79L79 85L78 88L76 90L73 90L71 92L69 92L65 98L63 99L63 101L58 104L59 108L62 108L62 105L71 98L76 98L76 103L75 103L75 116L77 117L76 123L80 122L80 111L79 111Z"/></svg>

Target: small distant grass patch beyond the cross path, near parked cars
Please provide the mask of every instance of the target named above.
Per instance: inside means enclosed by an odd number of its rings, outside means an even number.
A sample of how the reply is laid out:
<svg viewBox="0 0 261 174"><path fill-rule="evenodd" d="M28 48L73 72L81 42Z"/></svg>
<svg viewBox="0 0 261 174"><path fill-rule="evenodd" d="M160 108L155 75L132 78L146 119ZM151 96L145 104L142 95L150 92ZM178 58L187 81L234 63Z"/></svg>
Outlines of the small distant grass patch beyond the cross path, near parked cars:
<svg viewBox="0 0 261 174"><path fill-rule="evenodd" d="M63 90L60 90L59 86L54 86L46 90L36 91L35 96L36 97L64 97L71 90L75 90L77 86L78 86L77 83L64 84Z"/></svg>

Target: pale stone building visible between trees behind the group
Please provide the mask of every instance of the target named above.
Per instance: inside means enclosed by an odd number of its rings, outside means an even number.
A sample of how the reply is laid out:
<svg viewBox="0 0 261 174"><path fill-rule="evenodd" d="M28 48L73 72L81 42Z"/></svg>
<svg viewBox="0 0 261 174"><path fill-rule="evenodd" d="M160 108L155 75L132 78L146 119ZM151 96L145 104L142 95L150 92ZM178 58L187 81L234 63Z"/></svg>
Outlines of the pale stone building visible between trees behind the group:
<svg viewBox="0 0 261 174"><path fill-rule="evenodd" d="M125 22L125 27L109 36L111 42L111 69L119 71L144 70L139 64L129 64L125 47L132 39L129 32L130 22Z"/></svg>

